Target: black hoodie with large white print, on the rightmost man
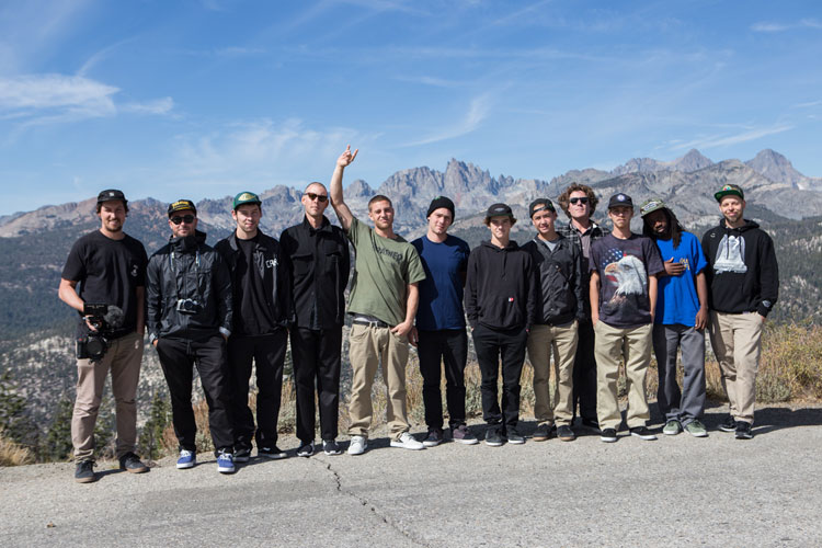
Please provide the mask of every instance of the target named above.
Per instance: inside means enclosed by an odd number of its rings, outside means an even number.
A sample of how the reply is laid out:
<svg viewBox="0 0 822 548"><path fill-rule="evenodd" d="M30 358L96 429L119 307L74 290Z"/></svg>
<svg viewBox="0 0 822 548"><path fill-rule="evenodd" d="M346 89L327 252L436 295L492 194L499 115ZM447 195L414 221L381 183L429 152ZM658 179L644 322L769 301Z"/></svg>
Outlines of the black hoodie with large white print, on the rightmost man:
<svg viewBox="0 0 822 548"><path fill-rule="evenodd" d="M728 228L724 219L703 236L708 302L719 312L767 316L779 295L774 241L753 220Z"/></svg>

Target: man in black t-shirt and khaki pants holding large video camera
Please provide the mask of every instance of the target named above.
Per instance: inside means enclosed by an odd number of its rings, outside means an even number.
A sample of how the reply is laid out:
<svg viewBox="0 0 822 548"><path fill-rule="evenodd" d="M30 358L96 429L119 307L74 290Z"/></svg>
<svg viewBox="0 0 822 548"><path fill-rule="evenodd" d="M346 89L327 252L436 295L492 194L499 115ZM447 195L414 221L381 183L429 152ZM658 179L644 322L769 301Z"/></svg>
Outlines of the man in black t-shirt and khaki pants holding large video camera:
<svg viewBox="0 0 822 548"><path fill-rule="evenodd" d="M75 242L58 292L60 300L83 317L77 330L77 399L71 418L75 480L79 483L96 479L94 424L109 370L116 402L119 467L134 473L148 471L134 453L148 259L142 243L123 232L128 214L123 192L101 192L96 214L100 230Z"/></svg>

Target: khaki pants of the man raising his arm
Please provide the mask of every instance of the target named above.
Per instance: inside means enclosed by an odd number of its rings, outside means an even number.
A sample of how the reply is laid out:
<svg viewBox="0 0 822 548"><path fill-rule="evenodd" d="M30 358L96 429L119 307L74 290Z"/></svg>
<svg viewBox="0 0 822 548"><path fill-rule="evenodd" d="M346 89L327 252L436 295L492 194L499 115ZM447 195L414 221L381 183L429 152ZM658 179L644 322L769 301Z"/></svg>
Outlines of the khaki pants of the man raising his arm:
<svg viewBox="0 0 822 548"><path fill-rule="evenodd" d="M406 364L408 363L408 338L398 336L388 328L375 328L354 323L349 335L349 357L353 369L351 384L351 427L349 434L368 436L372 425L372 385L377 366L383 363L383 378L388 386L386 420L393 439L408 432L406 410Z"/></svg>

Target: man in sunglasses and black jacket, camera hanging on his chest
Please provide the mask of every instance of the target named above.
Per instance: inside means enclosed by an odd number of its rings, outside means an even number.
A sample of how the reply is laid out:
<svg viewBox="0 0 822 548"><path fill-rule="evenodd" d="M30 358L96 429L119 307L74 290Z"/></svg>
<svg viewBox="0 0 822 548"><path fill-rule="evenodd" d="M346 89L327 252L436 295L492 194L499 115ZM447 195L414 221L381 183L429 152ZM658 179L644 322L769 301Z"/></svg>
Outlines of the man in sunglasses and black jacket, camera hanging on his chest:
<svg viewBox="0 0 822 548"><path fill-rule="evenodd" d="M226 263L197 230L197 209L189 199L169 206L172 238L148 262L146 304L149 341L157 349L171 392L171 413L180 444L178 468L196 464L197 424L191 404L196 364L208 402L217 471L231 473L233 432L226 340L231 334L231 278Z"/></svg>

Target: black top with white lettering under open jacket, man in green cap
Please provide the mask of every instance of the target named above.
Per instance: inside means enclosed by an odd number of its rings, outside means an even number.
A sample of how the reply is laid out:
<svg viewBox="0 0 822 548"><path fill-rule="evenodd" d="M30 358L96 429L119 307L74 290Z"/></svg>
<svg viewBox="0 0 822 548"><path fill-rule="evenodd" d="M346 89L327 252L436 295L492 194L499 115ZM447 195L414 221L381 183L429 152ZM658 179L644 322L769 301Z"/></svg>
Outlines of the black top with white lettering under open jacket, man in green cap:
<svg viewBox="0 0 822 548"><path fill-rule="evenodd" d="M240 256L235 272L235 332L238 335L262 335L276 330L267 306L269 296L260 269L254 266L254 248L259 235L250 240L237 238Z"/></svg>

